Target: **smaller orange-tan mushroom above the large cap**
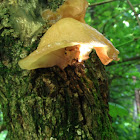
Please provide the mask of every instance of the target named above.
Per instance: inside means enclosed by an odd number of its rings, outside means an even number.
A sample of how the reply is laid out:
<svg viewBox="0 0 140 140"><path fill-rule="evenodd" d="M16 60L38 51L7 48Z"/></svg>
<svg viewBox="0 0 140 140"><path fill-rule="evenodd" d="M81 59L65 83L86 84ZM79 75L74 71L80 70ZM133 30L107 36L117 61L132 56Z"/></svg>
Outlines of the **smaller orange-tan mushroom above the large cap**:
<svg viewBox="0 0 140 140"><path fill-rule="evenodd" d="M71 17L85 23L84 17L87 7L88 2L86 0L66 0L56 12L50 9L44 10L42 18L49 21L50 24L54 24L56 21L66 17Z"/></svg>

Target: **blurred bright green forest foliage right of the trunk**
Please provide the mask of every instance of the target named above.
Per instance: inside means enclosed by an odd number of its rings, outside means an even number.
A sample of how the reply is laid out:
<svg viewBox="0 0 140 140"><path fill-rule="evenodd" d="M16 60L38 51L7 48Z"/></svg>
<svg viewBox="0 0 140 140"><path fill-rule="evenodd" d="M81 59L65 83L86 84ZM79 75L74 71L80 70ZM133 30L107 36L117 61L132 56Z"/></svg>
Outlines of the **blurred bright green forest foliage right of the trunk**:
<svg viewBox="0 0 140 140"><path fill-rule="evenodd" d="M92 5L103 0L88 2ZM140 18L140 1L130 2ZM139 140L140 114L134 116L134 100L135 90L140 89L140 26L134 12L127 0L117 0L89 7L86 23L103 33L120 51L120 61L106 66L110 115L119 140ZM135 61L127 61L137 57Z"/></svg>

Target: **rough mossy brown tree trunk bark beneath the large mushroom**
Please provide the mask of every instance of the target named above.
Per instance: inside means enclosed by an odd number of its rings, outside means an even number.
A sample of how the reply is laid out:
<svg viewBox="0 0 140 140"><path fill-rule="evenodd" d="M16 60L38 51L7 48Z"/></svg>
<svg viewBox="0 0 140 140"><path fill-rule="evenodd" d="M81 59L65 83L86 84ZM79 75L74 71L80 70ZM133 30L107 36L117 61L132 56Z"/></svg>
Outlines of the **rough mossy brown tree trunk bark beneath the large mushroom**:
<svg viewBox="0 0 140 140"><path fill-rule="evenodd" d="M0 103L7 139L117 139L108 113L107 77L96 53L85 64L75 63L63 71L58 67L21 70L18 60L38 41L24 47L28 43L16 36L4 5L0 7Z"/></svg>

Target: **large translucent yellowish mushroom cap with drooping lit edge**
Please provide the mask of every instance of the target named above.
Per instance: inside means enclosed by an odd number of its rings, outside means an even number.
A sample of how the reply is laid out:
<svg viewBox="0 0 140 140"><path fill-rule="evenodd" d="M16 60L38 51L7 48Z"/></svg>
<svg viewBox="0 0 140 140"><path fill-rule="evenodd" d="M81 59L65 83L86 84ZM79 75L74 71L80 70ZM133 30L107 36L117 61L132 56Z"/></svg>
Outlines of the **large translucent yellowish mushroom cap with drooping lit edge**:
<svg viewBox="0 0 140 140"><path fill-rule="evenodd" d="M47 30L38 48L20 60L19 66L31 70L57 65L64 69L73 59L87 59L93 48L104 65L118 60L119 51L96 29L73 18L63 18Z"/></svg>

